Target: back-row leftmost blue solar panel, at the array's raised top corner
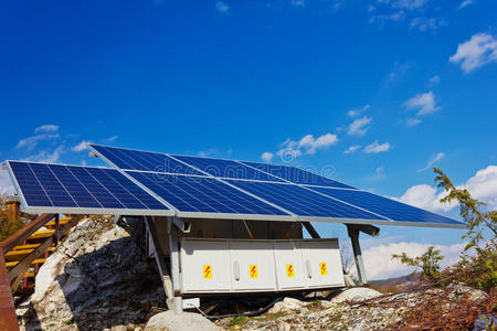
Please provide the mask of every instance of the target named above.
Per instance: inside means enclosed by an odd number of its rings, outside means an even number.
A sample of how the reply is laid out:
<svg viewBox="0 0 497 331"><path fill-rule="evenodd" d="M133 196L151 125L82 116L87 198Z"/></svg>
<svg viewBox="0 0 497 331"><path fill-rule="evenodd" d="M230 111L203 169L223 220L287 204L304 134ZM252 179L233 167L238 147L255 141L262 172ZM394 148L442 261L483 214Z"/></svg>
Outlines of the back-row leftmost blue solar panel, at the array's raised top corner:
<svg viewBox="0 0 497 331"><path fill-rule="evenodd" d="M152 153L99 145L91 145L91 147L120 169L202 174L193 168L178 162L177 160L162 153Z"/></svg>

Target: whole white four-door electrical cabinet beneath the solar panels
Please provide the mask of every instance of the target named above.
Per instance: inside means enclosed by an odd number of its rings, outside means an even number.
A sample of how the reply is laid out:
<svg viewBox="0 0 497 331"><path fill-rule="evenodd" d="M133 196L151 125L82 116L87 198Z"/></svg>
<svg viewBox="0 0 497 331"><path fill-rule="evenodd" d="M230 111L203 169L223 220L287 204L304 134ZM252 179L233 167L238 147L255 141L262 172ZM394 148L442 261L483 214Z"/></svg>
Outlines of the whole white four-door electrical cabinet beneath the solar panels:
<svg viewBox="0 0 497 331"><path fill-rule="evenodd" d="M182 238L180 278L183 293L343 286L337 239Z"/></svg>

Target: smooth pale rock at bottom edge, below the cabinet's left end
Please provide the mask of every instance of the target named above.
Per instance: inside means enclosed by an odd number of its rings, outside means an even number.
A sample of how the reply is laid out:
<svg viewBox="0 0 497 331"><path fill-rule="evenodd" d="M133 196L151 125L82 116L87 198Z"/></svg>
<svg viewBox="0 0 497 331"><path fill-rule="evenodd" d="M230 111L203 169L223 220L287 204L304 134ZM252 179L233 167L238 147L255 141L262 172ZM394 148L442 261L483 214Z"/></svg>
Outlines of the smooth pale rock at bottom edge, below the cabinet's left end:
<svg viewBox="0 0 497 331"><path fill-rule="evenodd" d="M221 330L213 322L203 316L194 312L176 313L172 310L155 314L148 320L147 328L166 328L168 331L201 330L219 331Z"/></svg>

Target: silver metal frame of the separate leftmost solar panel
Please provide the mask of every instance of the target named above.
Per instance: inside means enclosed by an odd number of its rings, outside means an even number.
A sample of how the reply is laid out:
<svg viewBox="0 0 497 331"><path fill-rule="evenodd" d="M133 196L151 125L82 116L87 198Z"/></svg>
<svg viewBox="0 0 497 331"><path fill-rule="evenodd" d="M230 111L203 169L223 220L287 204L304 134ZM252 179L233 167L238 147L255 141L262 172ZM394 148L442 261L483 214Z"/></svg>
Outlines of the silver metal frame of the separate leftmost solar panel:
<svg viewBox="0 0 497 331"><path fill-rule="evenodd" d="M21 190L21 185L15 178L15 174L10 166L10 162L22 162L22 163L38 163L38 164L53 164L53 166L66 166L66 167L80 167L80 168L96 168L96 169L105 169L110 171L117 171L123 173L121 171L108 167L86 167L86 166L72 166L72 164L57 164L57 163L43 163L43 162L30 162L30 161L14 161L7 160L4 162L7 172L12 181L12 184L18 192L19 200L21 202L21 206L23 207L24 213L29 214L118 214L118 215L129 215L129 216L173 216L175 211L171 210L168 205L165 205L167 210L144 210L144 209L109 209L109 207L63 207L63 206L33 206L29 205L28 201L24 197L23 191ZM127 177L126 177L127 178ZM134 183L136 184L136 183ZM138 185L138 188L142 189L142 185ZM145 190L144 190L145 191ZM148 192L147 192L148 193ZM148 193L150 194L150 193ZM151 195L151 194L150 194ZM70 195L72 196L72 195ZM158 200L155 195L151 195L154 199ZM162 203L158 200L159 203ZM162 203L163 204L163 203Z"/></svg>

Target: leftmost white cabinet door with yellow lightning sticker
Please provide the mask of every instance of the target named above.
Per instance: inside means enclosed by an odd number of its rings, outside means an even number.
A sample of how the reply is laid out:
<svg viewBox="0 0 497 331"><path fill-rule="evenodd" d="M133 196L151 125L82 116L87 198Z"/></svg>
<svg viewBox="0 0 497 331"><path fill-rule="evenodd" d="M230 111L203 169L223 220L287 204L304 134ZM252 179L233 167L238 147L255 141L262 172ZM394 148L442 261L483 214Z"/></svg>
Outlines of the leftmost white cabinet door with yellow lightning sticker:
<svg viewBox="0 0 497 331"><path fill-rule="evenodd" d="M181 244L183 292L231 290L230 245L226 241L188 241Z"/></svg>

